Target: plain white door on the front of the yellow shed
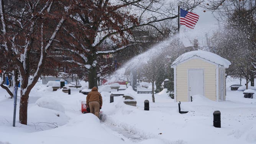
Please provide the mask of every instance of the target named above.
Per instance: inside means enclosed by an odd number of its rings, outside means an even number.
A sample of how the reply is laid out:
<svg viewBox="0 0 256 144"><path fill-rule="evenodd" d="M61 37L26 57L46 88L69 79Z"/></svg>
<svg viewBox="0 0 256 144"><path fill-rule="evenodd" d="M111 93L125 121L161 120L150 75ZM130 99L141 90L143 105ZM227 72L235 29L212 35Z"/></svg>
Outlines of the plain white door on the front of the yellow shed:
<svg viewBox="0 0 256 144"><path fill-rule="evenodd" d="M189 101L192 95L204 95L203 93L203 70L189 70Z"/></svg>

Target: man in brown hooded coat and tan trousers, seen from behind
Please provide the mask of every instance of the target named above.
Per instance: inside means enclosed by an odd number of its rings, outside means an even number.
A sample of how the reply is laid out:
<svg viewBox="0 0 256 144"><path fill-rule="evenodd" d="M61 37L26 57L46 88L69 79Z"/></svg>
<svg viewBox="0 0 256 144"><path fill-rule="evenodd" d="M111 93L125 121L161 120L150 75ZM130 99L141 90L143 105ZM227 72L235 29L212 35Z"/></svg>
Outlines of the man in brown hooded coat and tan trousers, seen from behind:
<svg viewBox="0 0 256 144"><path fill-rule="evenodd" d="M86 97L86 105L90 108L90 113L100 118L100 109L102 107L102 96L98 92L97 87L93 87L92 91Z"/></svg>

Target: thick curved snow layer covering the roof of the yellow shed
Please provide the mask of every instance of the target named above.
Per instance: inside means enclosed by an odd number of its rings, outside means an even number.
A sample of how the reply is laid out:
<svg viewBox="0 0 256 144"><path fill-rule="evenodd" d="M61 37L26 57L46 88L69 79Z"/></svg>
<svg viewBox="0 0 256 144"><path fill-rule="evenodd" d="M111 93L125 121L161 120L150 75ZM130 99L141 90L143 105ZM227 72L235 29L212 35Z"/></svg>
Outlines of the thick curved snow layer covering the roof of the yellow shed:
<svg viewBox="0 0 256 144"><path fill-rule="evenodd" d="M229 65L231 64L230 61L228 61L227 59L224 59L223 57L221 57L217 54L214 54L214 53L208 52L208 51L197 50L197 51L190 51L190 52L186 52L186 53L182 54L172 63L172 66L177 65L177 64L179 64L187 59L190 59L191 57L194 57L194 56L200 57L207 61L214 62L215 64L222 65L225 68L228 68Z"/></svg>

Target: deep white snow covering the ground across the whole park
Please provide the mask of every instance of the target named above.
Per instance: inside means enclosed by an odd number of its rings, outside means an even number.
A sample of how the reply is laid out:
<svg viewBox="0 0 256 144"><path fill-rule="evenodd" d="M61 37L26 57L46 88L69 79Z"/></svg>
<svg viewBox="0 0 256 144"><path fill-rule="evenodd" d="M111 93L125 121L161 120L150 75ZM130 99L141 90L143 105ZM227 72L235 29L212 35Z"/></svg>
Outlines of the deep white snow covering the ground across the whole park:
<svg viewBox="0 0 256 144"><path fill-rule="evenodd" d="M152 103L151 94L127 89L137 106L125 105L122 97L110 103L110 85L103 85L99 87L103 121L80 112L86 95L79 90L88 88L88 83L71 88L68 95L38 82L30 93L28 125L18 123L18 92L15 127L13 99L5 97L7 92L0 88L0 144L255 144L256 91L253 99L244 98L243 92L229 87L240 84L238 79L226 82L226 101L193 97L192 102L181 102L182 111L189 111L186 114L179 113L178 103L166 92L156 94ZM144 111L144 100L150 101L149 111ZM221 112L221 128L213 127L215 110Z"/></svg>

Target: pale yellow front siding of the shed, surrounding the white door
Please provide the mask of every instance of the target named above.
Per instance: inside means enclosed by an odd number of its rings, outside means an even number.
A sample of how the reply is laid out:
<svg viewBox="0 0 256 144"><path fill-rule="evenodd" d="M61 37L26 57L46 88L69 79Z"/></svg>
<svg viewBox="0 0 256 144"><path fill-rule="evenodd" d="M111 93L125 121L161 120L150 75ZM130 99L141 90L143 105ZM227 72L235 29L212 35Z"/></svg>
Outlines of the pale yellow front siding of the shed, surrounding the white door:
<svg viewBox="0 0 256 144"><path fill-rule="evenodd" d="M188 101L188 70L203 69L204 93L210 100L216 100L216 66L201 59L190 59L177 65L176 88L177 101Z"/></svg>

